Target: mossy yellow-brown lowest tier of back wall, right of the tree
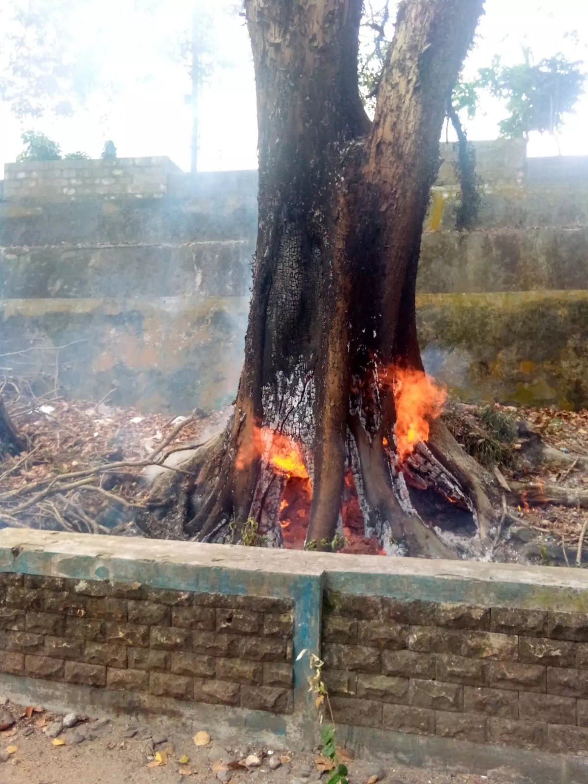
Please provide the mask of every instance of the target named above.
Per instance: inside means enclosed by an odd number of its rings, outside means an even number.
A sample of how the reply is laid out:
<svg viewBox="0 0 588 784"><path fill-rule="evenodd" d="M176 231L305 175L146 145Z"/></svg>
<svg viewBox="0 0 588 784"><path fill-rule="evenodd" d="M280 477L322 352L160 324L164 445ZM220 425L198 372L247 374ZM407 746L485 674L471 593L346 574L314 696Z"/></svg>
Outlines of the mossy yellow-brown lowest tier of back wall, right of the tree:
<svg viewBox="0 0 588 784"><path fill-rule="evenodd" d="M470 401L588 405L588 291L417 295L427 370Z"/></svg>

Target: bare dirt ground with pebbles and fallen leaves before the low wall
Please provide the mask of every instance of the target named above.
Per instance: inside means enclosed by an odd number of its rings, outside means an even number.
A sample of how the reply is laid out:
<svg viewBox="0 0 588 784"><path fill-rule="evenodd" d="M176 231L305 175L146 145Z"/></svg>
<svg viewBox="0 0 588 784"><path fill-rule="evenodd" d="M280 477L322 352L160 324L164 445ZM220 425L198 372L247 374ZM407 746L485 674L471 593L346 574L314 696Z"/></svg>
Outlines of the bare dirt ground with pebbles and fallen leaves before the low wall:
<svg viewBox="0 0 588 784"><path fill-rule="evenodd" d="M24 706L0 697L0 725L6 714L16 719L0 731L0 782L2 784L312 784L328 782L328 773L317 770L315 757L285 750L249 745L244 735L232 742L195 746L187 728L169 719L92 719L79 716L72 728L56 739L53 728L63 716L42 710L27 717ZM32 706L28 709L31 713ZM200 728L205 731L205 728ZM58 744L58 745L56 745ZM156 764L159 761L165 764ZM255 755L257 767L229 770L230 763ZM186 761L187 758L187 761ZM270 760L281 760L275 770ZM182 760L182 761L180 761ZM276 763L272 763L276 764ZM151 767L150 767L151 765ZM370 777L387 784L514 784L492 773L463 775L437 770L393 768L370 760L347 763L350 784L366 784Z"/></svg>

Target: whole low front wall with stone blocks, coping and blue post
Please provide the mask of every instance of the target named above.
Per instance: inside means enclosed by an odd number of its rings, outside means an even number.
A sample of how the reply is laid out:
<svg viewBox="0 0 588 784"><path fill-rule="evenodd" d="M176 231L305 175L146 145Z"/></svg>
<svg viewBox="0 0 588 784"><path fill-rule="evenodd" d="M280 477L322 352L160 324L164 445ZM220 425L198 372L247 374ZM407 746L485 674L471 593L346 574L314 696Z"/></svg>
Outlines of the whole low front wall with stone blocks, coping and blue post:
<svg viewBox="0 0 588 784"><path fill-rule="evenodd" d="M338 742L533 784L588 775L586 611L578 569L0 532L10 699L310 749L307 650Z"/></svg>

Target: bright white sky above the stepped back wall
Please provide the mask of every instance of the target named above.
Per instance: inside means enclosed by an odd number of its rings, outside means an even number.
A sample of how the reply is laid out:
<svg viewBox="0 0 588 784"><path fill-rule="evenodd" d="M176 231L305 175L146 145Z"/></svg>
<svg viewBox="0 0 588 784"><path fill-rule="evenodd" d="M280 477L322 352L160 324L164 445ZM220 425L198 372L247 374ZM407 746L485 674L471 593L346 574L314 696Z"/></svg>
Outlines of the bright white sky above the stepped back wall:
<svg viewBox="0 0 588 784"><path fill-rule="evenodd" d="M216 67L201 97L200 169L250 169L256 166L256 100L249 39L244 20L220 15L220 0L200 0L216 16ZM20 133L34 128L57 140L64 152L82 150L97 157L107 139L121 157L169 155L183 169L190 161L190 90L187 72L165 56L170 41L189 24L191 0L166 0L165 14L137 24L132 2L96 0L92 13L73 20L74 32L89 50L108 52L106 77L118 85L108 100L89 104L70 118L20 122L0 104L0 162L20 151ZM579 44L566 37L577 31ZM588 70L588 0L487 0L477 46L466 74L490 64L496 53L505 63L521 60L529 46L536 60L562 52L586 61ZM470 138L492 139L503 117L498 102L485 99L469 126ZM588 154L588 96L561 132L563 154ZM529 154L557 154L548 136L532 139Z"/></svg>

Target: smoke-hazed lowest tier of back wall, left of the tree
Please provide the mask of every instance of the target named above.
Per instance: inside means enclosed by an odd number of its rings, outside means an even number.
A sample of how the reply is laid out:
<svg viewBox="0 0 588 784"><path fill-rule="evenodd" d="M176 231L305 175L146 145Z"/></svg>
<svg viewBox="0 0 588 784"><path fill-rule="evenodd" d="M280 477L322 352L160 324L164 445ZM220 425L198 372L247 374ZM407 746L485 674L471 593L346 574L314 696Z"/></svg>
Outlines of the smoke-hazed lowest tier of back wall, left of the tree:
<svg viewBox="0 0 588 784"><path fill-rule="evenodd" d="M238 386L249 298L4 299L2 353L14 376L145 411L222 408Z"/></svg>

